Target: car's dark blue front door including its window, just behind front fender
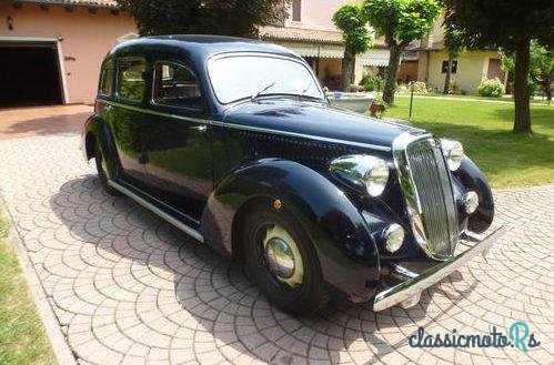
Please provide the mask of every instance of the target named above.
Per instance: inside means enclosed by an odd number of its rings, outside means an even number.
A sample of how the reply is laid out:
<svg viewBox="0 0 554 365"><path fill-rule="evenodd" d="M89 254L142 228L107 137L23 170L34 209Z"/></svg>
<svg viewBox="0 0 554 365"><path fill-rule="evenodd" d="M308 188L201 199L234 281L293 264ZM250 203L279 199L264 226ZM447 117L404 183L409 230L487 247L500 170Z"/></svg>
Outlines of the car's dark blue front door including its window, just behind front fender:
<svg viewBox="0 0 554 365"><path fill-rule="evenodd" d="M197 74L182 61L153 63L147 183L151 194L200 220L213 189L209 125Z"/></svg>

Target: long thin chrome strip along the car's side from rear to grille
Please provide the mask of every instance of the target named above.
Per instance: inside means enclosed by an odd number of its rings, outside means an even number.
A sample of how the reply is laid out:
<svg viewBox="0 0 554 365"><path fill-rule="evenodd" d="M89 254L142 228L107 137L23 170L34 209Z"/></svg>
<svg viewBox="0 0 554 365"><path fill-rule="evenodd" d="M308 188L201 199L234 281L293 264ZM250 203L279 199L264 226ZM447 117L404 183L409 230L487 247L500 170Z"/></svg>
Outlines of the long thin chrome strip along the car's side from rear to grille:
<svg viewBox="0 0 554 365"><path fill-rule="evenodd" d="M152 114L152 115L159 115L159 116L164 116L164 118L174 118L174 119L179 119L179 120L183 120L183 121L188 121L188 122L194 122L198 124L208 124L208 125L223 126L223 128L229 128L229 129L234 129L234 130L279 134L279 135L294 136L294 138L301 138L301 139L313 140L313 141L354 145L354 146L373 149L373 150L383 151L383 152L391 151L391 148L385 146L385 145L352 142L352 141L338 140L338 139L332 139L332 138L326 138L326 136L316 136L316 135L302 134L302 133L295 133L295 132L278 131L278 130L259 128L259 126L251 126L251 125L224 123L224 122L220 122L220 121L204 120L204 119L192 118L192 116L182 116L182 115L178 115L178 114L162 113L162 112L159 112L155 110L149 110L149 109L144 109L144 108L122 104L122 103L118 103L118 102L110 101L110 100L104 100L104 99L101 99L101 100L103 103L107 103L109 105L125 108L129 110L133 110L133 111L142 112L142 113L148 113L148 114Z"/></svg>

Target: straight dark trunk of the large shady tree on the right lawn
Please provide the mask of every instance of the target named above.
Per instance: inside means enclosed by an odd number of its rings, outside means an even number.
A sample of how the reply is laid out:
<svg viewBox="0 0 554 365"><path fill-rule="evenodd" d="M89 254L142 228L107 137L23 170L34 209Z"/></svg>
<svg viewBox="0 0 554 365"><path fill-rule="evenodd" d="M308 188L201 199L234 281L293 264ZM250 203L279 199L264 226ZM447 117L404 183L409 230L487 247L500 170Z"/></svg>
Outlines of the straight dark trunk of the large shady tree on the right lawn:
<svg viewBox="0 0 554 365"><path fill-rule="evenodd" d="M528 38L522 38L517 41L515 50L514 133L532 133L528 91L530 45L531 40Z"/></svg>

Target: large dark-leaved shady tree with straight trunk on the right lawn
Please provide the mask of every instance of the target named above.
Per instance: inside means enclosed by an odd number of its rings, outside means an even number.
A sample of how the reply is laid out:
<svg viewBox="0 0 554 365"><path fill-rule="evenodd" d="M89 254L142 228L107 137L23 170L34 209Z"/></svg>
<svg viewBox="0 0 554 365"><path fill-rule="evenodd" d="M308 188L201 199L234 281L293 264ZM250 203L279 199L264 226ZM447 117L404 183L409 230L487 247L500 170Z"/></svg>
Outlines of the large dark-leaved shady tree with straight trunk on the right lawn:
<svg viewBox="0 0 554 365"><path fill-rule="evenodd" d="M530 45L532 39L554 44L552 0L442 0L445 21L472 48L501 47L515 53L513 132L531 134Z"/></svg>

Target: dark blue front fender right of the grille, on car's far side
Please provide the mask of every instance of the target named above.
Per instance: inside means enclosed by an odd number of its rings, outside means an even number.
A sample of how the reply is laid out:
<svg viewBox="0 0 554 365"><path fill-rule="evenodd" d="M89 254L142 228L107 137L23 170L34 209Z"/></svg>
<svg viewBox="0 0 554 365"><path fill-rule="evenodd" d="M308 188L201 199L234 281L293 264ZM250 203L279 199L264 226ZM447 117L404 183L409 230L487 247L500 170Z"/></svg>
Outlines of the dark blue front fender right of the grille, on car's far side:
<svg viewBox="0 0 554 365"><path fill-rule="evenodd" d="M467 222L467 229L472 232L485 232L494 219L494 200L491 185L477 165L470 159L462 160L460 169L454 172L466 190L473 190L479 195L479 206Z"/></svg>

